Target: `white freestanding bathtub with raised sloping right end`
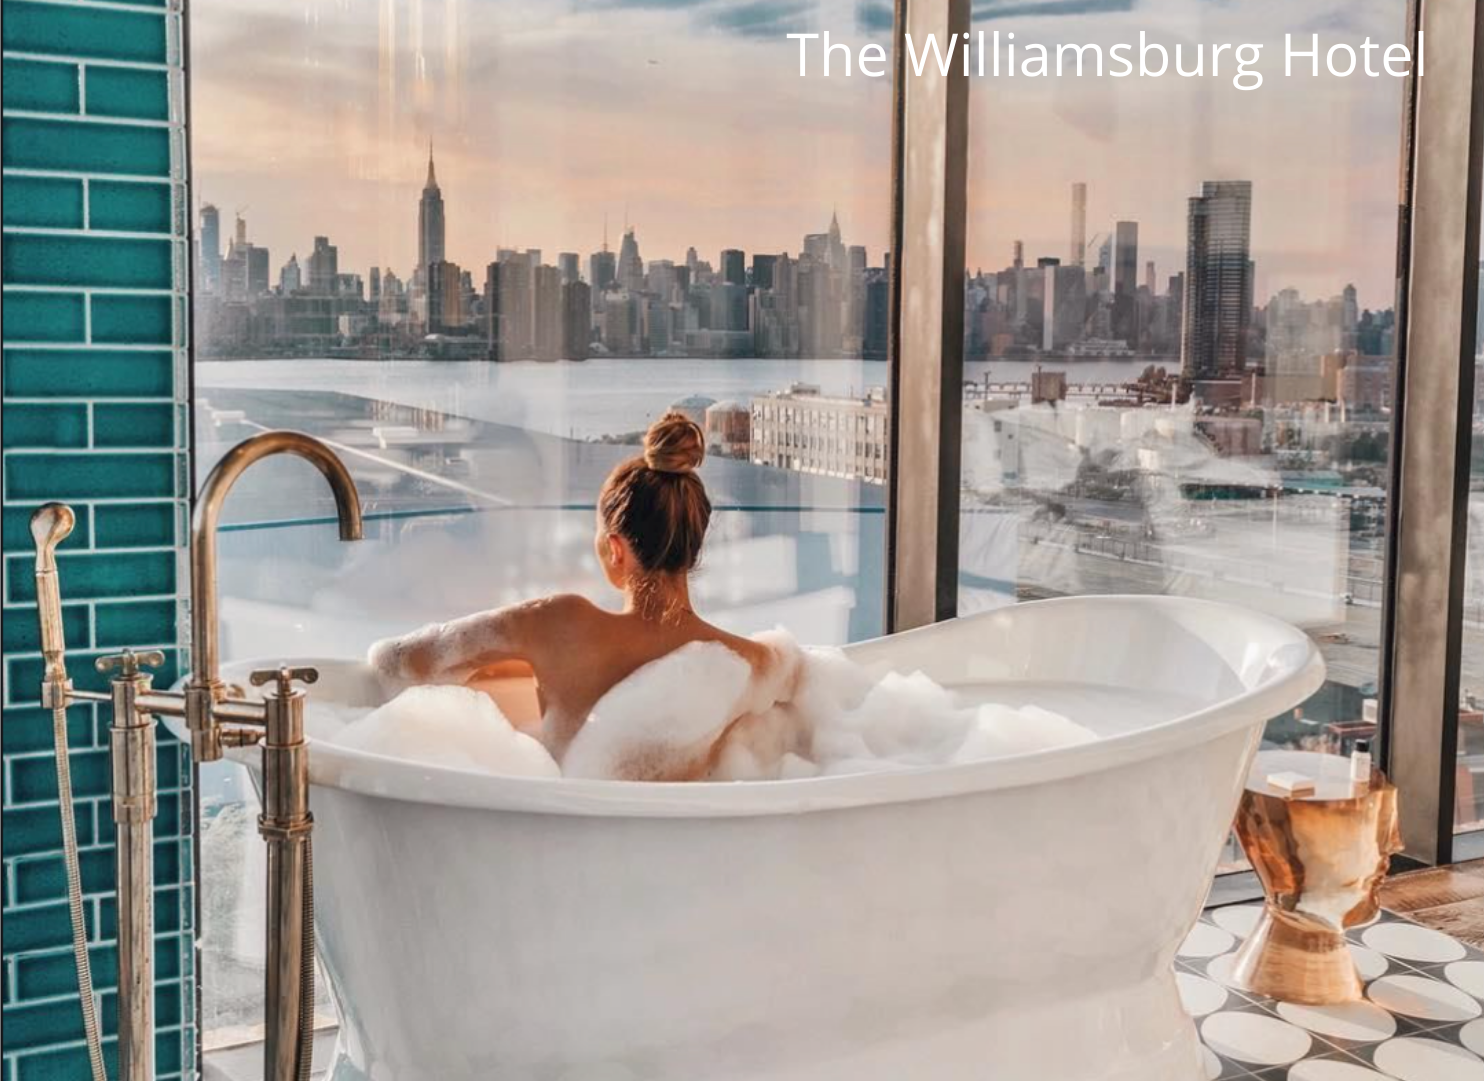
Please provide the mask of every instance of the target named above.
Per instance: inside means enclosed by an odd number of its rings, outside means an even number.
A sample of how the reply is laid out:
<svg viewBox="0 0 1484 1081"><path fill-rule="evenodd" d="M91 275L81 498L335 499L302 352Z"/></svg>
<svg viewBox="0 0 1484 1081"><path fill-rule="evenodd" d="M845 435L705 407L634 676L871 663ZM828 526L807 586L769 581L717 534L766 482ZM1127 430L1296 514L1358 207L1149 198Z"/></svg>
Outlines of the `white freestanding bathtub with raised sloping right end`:
<svg viewBox="0 0 1484 1081"><path fill-rule="evenodd" d="M1324 679L1310 641L1238 607L1097 597L849 652L1107 738L742 784L316 744L334 1081L1204 1077L1171 962L1263 723ZM315 695L374 704L364 667L318 664Z"/></svg>

